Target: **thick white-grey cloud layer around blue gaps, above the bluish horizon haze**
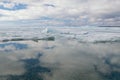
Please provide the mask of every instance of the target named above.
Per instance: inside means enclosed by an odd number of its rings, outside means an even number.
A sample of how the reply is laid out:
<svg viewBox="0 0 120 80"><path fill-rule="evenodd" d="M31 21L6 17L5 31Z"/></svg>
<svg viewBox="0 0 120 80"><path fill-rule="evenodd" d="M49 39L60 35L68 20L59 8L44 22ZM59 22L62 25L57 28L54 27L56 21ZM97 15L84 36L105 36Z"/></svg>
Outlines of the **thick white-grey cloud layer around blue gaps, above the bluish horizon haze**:
<svg viewBox="0 0 120 80"><path fill-rule="evenodd" d="M3 0L1 0L2 3ZM14 4L26 4L25 9L9 11L0 9L0 21L15 21L40 19L40 17L52 17L60 20L72 20L72 24L80 25L85 21L86 25L97 24L100 21L111 22L120 21L120 1L119 0L9 0L11 3L2 3L4 7L12 8ZM54 5L45 6L44 4ZM1 4L0 4L1 5ZM109 17L109 16L110 17ZM107 16L107 17L106 17ZM107 21L107 20L108 21ZM115 20L114 20L115 19ZM60 22L60 21L58 21ZM78 23L76 23L78 22ZM89 24L88 24L89 23ZM67 24L67 23L65 23ZM117 25L120 23L118 22Z"/></svg>

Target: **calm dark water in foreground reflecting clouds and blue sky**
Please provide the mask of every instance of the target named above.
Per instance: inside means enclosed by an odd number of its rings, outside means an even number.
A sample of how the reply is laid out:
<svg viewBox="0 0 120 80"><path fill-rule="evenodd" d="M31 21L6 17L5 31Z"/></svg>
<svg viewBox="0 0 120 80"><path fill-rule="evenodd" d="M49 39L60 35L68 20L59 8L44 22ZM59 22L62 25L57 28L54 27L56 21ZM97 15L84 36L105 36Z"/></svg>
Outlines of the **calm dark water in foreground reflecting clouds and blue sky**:
<svg viewBox="0 0 120 80"><path fill-rule="evenodd" d="M26 41L0 50L0 80L120 80L120 43Z"/></svg>

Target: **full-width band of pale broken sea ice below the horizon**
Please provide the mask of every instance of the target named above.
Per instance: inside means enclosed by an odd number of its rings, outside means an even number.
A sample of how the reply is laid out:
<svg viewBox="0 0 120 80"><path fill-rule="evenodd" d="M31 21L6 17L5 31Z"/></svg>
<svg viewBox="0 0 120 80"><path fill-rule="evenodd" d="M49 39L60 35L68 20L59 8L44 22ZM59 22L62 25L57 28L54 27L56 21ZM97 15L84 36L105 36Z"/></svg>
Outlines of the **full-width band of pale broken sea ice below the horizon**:
<svg viewBox="0 0 120 80"><path fill-rule="evenodd" d="M74 39L80 42L120 42L119 27L17 27L0 29L0 40L13 38Z"/></svg>

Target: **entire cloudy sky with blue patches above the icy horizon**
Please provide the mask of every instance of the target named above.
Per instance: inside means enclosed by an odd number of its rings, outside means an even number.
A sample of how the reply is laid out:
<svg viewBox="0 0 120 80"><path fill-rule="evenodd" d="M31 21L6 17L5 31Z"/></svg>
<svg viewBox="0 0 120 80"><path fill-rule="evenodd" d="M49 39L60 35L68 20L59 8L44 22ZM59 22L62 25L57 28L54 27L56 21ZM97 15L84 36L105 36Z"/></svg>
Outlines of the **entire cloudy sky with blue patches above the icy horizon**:
<svg viewBox="0 0 120 80"><path fill-rule="evenodd" d="M4 26L120 26L120 0L0 0Z"/></svg>

